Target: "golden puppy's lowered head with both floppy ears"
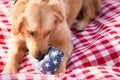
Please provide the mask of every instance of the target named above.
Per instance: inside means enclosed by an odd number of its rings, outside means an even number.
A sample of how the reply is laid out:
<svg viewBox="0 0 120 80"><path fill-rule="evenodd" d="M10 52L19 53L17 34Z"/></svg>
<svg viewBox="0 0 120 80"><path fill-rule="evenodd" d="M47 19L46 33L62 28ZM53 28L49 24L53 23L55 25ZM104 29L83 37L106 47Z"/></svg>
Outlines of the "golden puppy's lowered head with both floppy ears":
<svg viewBox="0 0 120 80"><path fill-rule="evenodd" d="M48 2L30 2L25 12L18 17L18 26L13 34L22 34L30 54L41 59L48 51L49 38L63 22L64 17L57 6Z"/></svg>

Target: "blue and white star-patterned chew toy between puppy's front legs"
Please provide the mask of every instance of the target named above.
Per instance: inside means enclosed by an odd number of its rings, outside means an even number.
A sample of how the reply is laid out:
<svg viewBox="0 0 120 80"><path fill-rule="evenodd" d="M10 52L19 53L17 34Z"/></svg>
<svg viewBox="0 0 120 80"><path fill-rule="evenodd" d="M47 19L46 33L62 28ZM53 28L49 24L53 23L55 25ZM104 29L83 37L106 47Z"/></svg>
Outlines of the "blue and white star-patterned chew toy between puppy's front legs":
<svg viewBox="0 0 120 80"><path fill-rule="evenodd" d="M62 51L49 46L48 54L43 60L33 64L33 67L43 74L54 74L63 56L64 53Z"/></svg>

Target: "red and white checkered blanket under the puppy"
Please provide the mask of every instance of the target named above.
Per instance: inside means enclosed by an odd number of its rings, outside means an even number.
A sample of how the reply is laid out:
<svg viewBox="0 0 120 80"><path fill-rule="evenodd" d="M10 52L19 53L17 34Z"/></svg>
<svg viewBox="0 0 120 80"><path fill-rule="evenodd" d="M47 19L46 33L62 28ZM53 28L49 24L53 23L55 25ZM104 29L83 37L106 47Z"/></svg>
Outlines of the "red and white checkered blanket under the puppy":
<svg viewBox="0 0 120 80"><path fill-rule="evenodd" d="M13 3L14 0L0 0L0 72L6 62ZM25 55L19 73L0 73L0 80L120 79L120 0L102 0L102 4L98 17L83 32L71 29L74 50L67 63L67 72L43 75L32 67L34 58Z"/></svg>

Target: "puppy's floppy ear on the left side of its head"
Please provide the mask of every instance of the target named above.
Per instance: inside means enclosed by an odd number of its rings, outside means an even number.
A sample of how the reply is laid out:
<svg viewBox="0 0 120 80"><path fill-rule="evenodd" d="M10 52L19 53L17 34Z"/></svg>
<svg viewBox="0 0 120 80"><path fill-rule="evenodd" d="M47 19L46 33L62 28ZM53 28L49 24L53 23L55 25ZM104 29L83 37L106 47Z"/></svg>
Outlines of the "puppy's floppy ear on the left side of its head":
<svg viewBox="0 0 120 80"><path fill-rule="evenodd" d="M14 35L19 34L20 29L21 29L21 27L22 27L22 25L23 25L23 22L24 22L23 20L24 20L24 15L20 15L20 16L18 17L18 19L17 19L16 21L14 21L13 27L12 27L12 33L13 33Z"/></svg>

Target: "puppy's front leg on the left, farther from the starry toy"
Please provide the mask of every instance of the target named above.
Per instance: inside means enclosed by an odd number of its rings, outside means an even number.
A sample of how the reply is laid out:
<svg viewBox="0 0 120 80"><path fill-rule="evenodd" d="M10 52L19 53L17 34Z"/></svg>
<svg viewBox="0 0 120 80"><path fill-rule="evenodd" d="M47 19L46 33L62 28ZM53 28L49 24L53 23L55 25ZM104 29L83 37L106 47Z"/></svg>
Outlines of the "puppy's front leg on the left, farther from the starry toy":
<svg viewBox="0 0 120 80"><path fill-rule="evenodd" d="M10 43L7 63L3 70L3 73L16 73L19 66L19 62L25 53L25 43L21 40L13 40Z"/></svg>

